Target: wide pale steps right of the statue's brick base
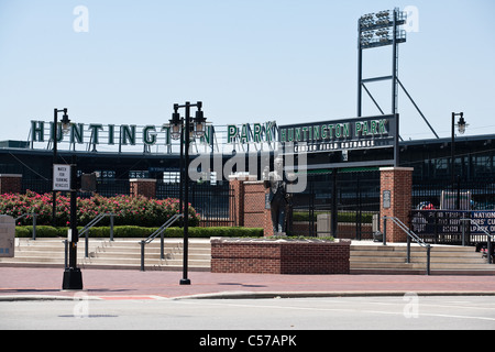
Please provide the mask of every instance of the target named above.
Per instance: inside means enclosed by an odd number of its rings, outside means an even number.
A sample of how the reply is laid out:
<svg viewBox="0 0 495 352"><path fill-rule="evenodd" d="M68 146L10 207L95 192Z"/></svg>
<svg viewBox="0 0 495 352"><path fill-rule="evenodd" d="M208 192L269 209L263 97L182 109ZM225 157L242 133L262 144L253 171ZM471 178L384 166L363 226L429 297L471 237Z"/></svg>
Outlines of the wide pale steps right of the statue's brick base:
<svg viewBox="0 0 495 352"><path fill-rule="evenodd" d="M354 242L355 243L355 242ZM404 243L351 245L351 274L426 274L427 250L410 246L410 263ZM431 245L431 275L495 275L495 264L487 264L473 246Z"/></svg>

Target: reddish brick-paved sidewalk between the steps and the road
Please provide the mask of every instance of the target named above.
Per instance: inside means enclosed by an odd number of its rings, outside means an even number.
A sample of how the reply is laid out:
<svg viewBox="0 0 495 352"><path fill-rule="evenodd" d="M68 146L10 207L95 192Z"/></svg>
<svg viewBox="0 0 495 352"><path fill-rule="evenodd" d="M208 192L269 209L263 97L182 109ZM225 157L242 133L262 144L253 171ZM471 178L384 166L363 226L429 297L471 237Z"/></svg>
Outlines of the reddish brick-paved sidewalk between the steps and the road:
<svg viewBox="0 0 495 352"><path fill-rule="evenodd" d="M62 290L64 268L0 267L0 300L274 298L404 295L495 295L495 276L268 275L82 270L82 290Z"/></svg>

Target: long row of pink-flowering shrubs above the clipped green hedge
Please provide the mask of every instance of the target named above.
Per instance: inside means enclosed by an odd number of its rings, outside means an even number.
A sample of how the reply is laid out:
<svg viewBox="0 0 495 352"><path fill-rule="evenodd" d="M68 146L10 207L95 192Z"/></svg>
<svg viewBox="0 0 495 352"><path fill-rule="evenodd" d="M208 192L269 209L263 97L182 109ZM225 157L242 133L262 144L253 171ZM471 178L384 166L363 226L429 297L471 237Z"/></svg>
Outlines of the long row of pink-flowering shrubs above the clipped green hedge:
<svg viewBox="0 0 495 352"><path fill-rule="evenodd" d="M25 213L37 215L36 224L52 224L53 195L28 190L25 195L6 194L0 196L0 213L19 218ZM145 197L116 196L91 198L77 198L77 224L86 226L99 213L114 213L116 226L161 227L172 216L179 212L178 199L148 199ZM61 194L56 197L57 227L70 224L70 197ZM32 217L18 220L18 224L32 224ZM109 217L103 218L98 226L110 222ZM189 205L189 224L199 224L199 215Z"/></svg>

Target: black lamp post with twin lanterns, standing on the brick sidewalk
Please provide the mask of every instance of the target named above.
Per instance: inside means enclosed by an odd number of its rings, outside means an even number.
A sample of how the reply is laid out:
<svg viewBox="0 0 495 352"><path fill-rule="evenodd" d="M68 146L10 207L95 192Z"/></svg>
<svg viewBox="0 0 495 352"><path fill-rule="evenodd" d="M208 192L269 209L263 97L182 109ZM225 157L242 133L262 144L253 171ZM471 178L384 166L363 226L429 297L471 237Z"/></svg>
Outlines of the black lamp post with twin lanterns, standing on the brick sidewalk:
<svg viewBox="0 0 495 352"><path fill-rule="evenodd" d="M190 117L190 108L197 107L198 111L196 111L196 118L191 119ZM188 241L189 241L189 142L191 138L201 138L205 135L205 127L206 119L201 111L202 103L198 101L197 103L190 103L186 101L185 105L179 106L178 103L174 105L174 112L172 114L170 123L170 136L173 140L180 139L180 155L183 144L185 147L185 163L183 163L180 167L180 188L182 183L184 180L184 260L183 260L183 278L180 279L180 285L190 285L190 279L187 277L187 262L188 262ZM178 113L179 108L186 109L186 117L183 119ZM193 125L191 125L193 123ZM185 139L185 141L184 141ZM182 157L182 156L180 156ZM184 167L184 174L183 174ZM180 209L183 210L183 209Z"/></svg>

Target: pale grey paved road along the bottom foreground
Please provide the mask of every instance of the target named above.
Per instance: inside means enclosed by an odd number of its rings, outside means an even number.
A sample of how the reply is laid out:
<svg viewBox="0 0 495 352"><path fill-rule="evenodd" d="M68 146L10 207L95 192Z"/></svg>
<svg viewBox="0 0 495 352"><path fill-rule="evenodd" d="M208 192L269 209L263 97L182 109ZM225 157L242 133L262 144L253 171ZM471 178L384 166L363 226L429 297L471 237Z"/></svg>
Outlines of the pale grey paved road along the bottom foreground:
<svg viewBox="0 0 495 352"><path fill-rule="evenodd" d="M0 329L494 330L491 296L0 301ZM207 334L207 332L205 332ZM201 334L199 334L201 337Z"/></svg>

